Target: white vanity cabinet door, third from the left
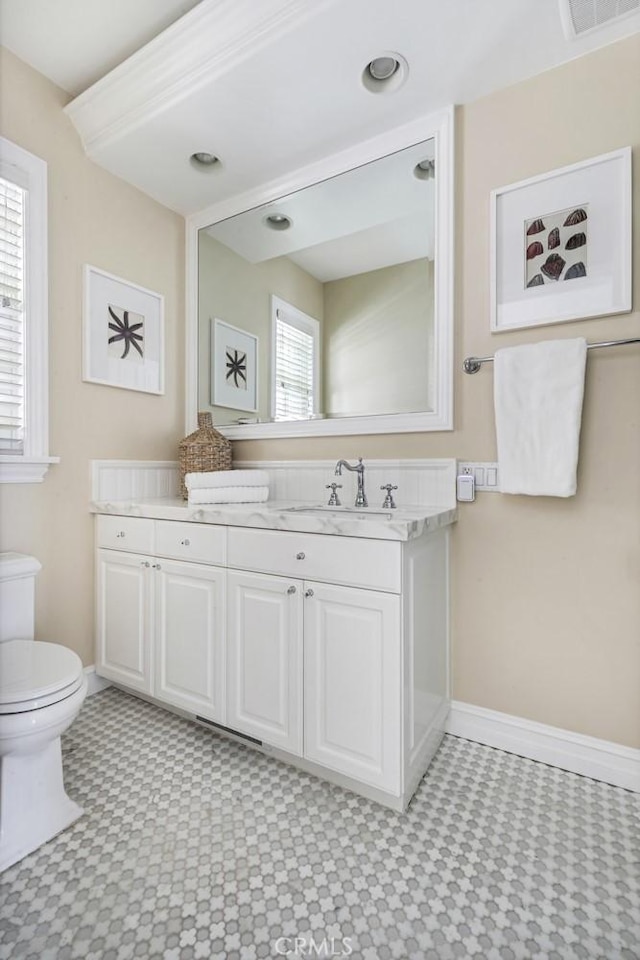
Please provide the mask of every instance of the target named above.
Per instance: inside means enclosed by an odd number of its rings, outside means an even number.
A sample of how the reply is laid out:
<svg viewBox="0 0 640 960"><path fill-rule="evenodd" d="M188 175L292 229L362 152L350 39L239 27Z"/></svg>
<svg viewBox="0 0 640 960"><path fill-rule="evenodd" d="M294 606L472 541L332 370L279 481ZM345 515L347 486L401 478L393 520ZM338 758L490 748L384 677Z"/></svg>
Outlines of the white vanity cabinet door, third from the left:
<svg viewBox="0 0 640 960"><path fill-rule="evenodd" d="M302 753L302 583L228 573L227 726Z"/></svg>

